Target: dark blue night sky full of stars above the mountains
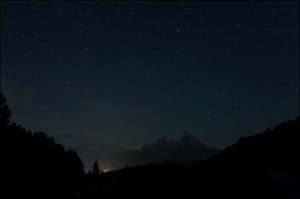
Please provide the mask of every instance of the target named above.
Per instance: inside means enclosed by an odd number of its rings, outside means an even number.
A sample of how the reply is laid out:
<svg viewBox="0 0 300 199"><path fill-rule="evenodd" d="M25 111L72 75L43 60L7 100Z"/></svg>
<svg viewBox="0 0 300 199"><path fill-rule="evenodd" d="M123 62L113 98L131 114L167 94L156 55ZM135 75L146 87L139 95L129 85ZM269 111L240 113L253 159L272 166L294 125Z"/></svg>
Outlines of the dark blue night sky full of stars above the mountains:
<svg viewBox="0 0 300 199"><path fill-rule="evenodd" d="M1 1L1 91L63 145L223 150L299 115L299 1Z"/></svg>

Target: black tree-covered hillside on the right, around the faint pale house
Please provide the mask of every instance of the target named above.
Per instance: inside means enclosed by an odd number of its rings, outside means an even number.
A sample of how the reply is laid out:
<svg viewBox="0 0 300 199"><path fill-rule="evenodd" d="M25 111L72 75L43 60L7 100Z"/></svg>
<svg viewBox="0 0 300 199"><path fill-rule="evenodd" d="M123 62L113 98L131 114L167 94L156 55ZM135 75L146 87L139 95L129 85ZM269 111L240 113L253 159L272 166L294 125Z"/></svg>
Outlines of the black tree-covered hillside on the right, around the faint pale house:
<svg viewBox="0 0 300 199"><path fill-rule="evenodd" d="M268 127L263 133L242 137L209 161L193 161L191 169L195 176L206 180L203 187L207 190L218 182L218 192L213 192L216 196L222 193L224 196L297 198L298 134L299 116L273 130ZM288 173L291 179L271 179L267 172L276 170Z"/></svg>

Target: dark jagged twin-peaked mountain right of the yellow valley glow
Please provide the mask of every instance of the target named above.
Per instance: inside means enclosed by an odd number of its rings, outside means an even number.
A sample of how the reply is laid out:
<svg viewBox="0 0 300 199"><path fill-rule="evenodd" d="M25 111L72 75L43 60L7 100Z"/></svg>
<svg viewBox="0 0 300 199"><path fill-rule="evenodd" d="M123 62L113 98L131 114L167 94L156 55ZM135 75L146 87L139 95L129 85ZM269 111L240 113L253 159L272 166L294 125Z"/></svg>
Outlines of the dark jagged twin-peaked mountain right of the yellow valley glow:
<svg viewBox="0 0 300 199"><path fill-rule="evenodd" d="M145 145L140 151L132 150L116 154L110 162L110 167L116 170L125 166L165 162L182 163L190 167L192 160L209 159L221 152L222 150L208 147L190 133L185 132L178 141L169 141L162 137L150 145Z"/></svg>

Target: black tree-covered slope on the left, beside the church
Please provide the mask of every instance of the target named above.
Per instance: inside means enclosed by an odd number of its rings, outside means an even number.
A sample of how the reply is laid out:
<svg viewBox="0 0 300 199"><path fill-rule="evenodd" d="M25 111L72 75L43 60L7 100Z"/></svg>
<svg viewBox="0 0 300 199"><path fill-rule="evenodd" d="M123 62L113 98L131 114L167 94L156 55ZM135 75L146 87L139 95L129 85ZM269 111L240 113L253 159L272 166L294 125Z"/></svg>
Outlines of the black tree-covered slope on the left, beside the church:
<svg viewBox="0 0 300 199"><path fill-rule="evenodd" d="M44 132L8 125L10 110L1 97L1 198L75 196L85 173L76 151L66 151Z"/></svg>

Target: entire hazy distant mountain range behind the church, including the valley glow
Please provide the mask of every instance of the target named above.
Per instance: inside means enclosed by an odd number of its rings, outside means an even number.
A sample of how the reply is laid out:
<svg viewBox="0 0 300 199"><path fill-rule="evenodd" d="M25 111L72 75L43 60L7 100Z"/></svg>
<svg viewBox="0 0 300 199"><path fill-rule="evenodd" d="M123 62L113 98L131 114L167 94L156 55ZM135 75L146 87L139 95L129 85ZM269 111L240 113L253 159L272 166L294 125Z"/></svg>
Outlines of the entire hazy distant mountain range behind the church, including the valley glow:
<svg viewBox="0 0 300 199"><path fill-rule="evenodd" d="M150 145L145 145L141 150L111 149L106 145L93 142L65 148L77 151L85 164L86 172L89 169L92 170L96 156L100 169L117 170L125 166L165 162L182 163L190 167L192 160L209 159L222 152L222 150L204 145L188 132L185 132L179 141L169 141L162 137Z"/></svg>

